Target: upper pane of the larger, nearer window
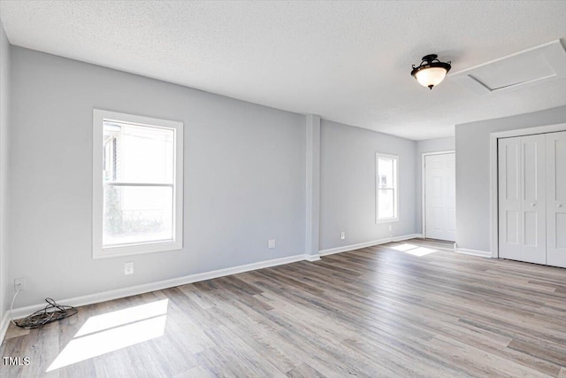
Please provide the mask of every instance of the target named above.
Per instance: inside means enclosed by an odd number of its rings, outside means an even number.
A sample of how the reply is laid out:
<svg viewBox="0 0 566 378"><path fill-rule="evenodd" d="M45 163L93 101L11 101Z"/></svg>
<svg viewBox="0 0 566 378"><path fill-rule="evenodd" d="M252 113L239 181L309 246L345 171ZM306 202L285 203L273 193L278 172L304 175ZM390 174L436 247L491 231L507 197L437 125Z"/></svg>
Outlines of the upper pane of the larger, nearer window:
<svg viewBox="0 0 566 378"><path fill-rule="evenodd" d="M104 122L103 181L173 181L172 129Z"/></svg>

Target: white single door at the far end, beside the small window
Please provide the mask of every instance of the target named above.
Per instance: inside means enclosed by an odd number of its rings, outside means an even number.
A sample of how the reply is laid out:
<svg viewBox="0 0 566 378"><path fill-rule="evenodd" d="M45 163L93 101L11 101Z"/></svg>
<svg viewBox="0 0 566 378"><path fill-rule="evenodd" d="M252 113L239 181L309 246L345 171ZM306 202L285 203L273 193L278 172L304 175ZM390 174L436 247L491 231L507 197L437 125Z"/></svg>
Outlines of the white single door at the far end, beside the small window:
<svg viewBox="0 0 566 378"><path fill-rule="evenodd" d="M424 155L424 237L455 241L455 153Z"/></svg>

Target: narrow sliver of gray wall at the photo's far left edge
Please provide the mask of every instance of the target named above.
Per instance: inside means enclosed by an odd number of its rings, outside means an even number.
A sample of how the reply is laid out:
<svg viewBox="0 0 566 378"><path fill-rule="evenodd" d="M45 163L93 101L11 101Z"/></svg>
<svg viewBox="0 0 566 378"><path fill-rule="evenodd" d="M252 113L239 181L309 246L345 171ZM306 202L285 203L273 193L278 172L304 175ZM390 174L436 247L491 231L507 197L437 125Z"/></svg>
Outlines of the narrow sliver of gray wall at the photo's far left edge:
<svg viewBox="0 0 566 378"><path fill-rule="evenodd" d="M0 320L9 305L8 284L8 129L10 124L10 44L0 22Z"/></svg>

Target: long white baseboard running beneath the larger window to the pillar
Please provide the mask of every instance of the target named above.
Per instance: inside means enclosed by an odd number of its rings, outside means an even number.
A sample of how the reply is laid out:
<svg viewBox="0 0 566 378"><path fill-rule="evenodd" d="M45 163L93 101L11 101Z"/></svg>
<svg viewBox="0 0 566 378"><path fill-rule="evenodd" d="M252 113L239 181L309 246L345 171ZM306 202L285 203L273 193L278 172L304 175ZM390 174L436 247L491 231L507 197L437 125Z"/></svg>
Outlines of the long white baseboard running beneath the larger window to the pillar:
<svg viewBox="0 0 566 378"><path fill-rule="evenodd" d="M79 307L81 305L93 305L99 302L110 301L112 299L131 297L138 294L148 293L150 291L174 288L176 286L186 285L187 283L211 280L213 278L224 277L226 275L239 274L239 273L249 272L252 270L263 269L266 267L285 265L285 264L294 263L296 261L302 261L302 260L316 261L318 259L320 259L320 257L317 255L307 255L307 254L289 256L287 258L274 258L271 260L265 260L265 261L260 261L241 266L233 266L233 267L213 270L205 273L189 274L184 277L172 278L171 280L151 282L143 285L132 286L129 288L115 289L115 290L103 291L101 293L89 294L81 297L73 297L63 300L57 300L57 303L60 305L72 305L74 307ZM29 315L32 312L35 312L43 308L44 306L45 304L43 303L41 305L28 305L26 307L19 307L19 308L15 308L12 311L12 314L14 319L20 319ZM9 323L9 320L7 320L8 318L7 313L4 318L6 318L6 320L3 320L2 329L4 329L4 326L7 329ZM0 338L0 340L4 340L4 334L2 334L1 336L2 338Z"/></svg>

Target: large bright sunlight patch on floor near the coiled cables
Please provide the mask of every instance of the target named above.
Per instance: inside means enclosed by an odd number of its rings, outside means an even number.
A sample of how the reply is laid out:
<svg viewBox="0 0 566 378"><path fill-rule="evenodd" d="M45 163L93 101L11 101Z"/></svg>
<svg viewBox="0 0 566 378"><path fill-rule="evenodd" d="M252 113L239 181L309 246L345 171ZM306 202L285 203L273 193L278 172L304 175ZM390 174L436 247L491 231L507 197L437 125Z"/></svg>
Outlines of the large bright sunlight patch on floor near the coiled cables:
<svg viewBox="0 0 566 378"><path fill-rule="evenodd" d="M169 299L90 317L46 372L163 336Z"/></svg>

